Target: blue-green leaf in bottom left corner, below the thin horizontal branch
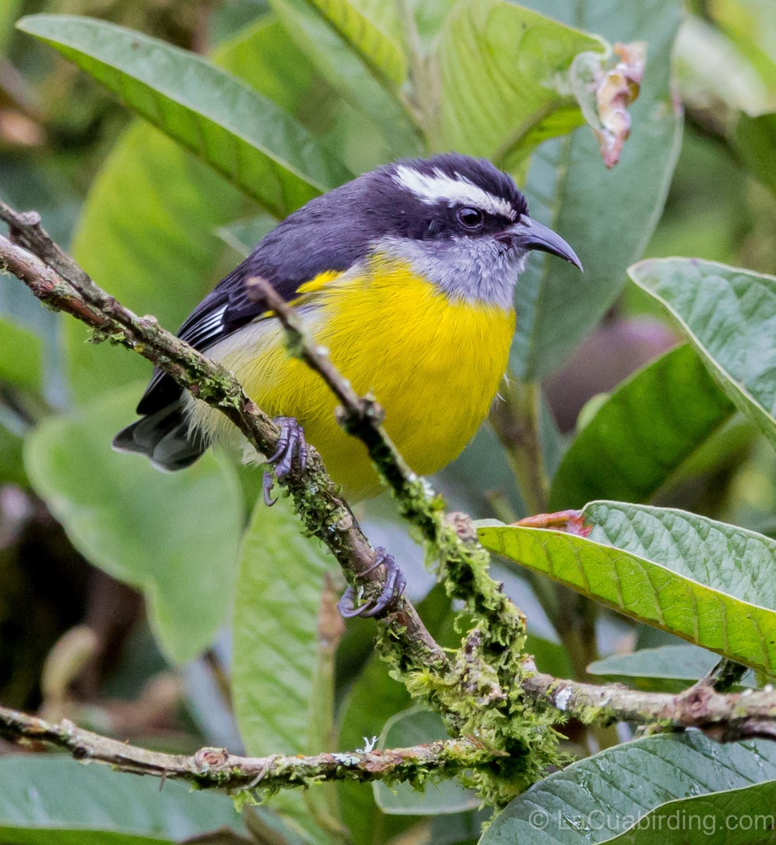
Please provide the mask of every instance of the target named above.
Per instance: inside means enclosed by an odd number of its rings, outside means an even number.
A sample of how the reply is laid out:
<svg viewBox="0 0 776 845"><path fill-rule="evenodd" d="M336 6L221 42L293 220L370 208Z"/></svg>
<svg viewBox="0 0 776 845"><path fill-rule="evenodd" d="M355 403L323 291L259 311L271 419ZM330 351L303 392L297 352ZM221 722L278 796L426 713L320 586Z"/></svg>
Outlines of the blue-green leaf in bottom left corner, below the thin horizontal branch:
<svg viewBox="0 0 776 845"><path fill-rule="evenodd" d="M217 827L244 830L226 795L64 755L0 759L3 845L157 845Z"/></svg>

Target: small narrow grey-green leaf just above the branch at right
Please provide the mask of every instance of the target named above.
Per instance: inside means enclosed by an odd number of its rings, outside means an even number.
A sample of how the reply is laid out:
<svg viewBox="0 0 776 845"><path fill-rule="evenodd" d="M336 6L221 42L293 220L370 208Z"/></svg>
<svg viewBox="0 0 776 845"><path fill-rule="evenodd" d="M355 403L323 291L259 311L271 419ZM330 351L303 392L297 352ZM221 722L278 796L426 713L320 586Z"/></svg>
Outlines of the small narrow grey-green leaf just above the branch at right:
<svg viewBox="0 0 776 845"><path fill-rule="evenodd" d="M697 646L660 646L595 660L587 673L637 690L680 692L711 672L718 661L717 655Z"/></svg>

